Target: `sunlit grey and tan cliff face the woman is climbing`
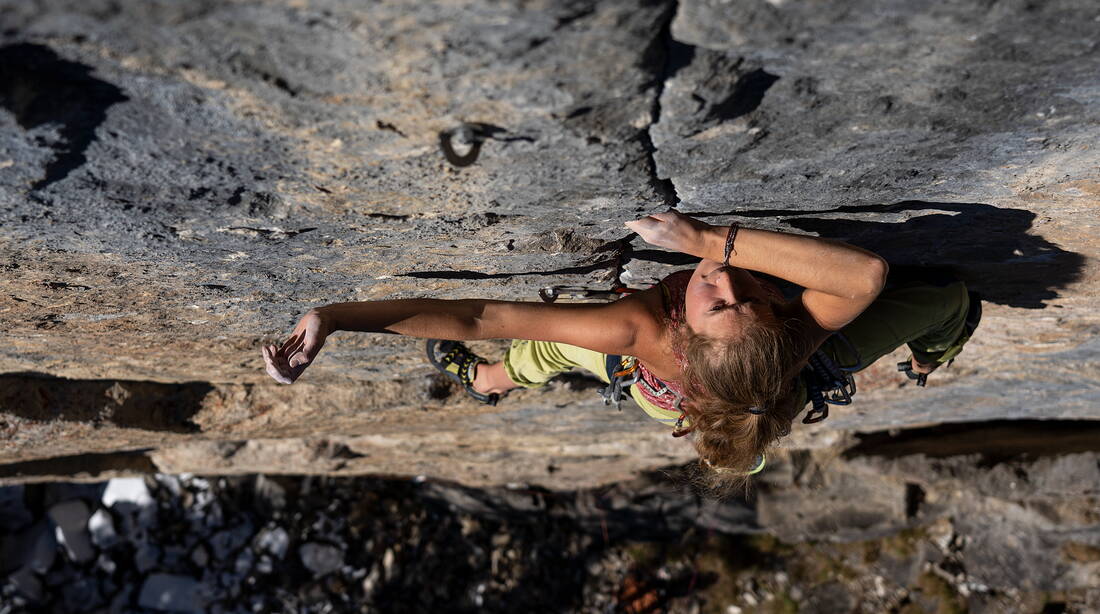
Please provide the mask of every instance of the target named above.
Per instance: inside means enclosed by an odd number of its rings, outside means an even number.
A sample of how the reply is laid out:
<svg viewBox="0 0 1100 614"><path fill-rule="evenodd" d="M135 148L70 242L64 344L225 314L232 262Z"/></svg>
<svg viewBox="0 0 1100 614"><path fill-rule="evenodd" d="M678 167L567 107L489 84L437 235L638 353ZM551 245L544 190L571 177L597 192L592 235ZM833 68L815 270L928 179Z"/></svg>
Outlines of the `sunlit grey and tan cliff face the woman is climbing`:
<svg viewBox="0 0 1100 614"><path fill-rule="evenodd" d="M927 390L886 359L792 447L1100 417L1092 2L56 0L0 15L0 480L575 487L688 460L583 379L485 408L407 339L339 336L286 388L258 360L328 301L535 299L620 265L644 284L685 261L620 222L678 200L953 265L989 300Z"/></svg>

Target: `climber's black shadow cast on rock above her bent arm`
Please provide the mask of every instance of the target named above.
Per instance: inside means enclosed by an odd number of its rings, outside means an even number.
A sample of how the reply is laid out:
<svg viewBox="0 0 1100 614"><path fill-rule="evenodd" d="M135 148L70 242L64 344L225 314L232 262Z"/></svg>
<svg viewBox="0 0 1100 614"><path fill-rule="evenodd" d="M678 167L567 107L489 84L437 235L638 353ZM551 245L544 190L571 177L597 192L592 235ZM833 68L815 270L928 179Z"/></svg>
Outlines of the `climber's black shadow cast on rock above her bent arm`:
<svg viewBox="0 0 1100 614"><path fill-rule="evenodd" d="M846 213L843 218L815 217ZM860 216L879 219L859 219ZM738 211L784 217L799 230L871 250L891 265L957 268L985 300L1042 309L1081 276L1085 257L1028 231L1035 213L981 202L854 205L827 211Z"/></svg>

